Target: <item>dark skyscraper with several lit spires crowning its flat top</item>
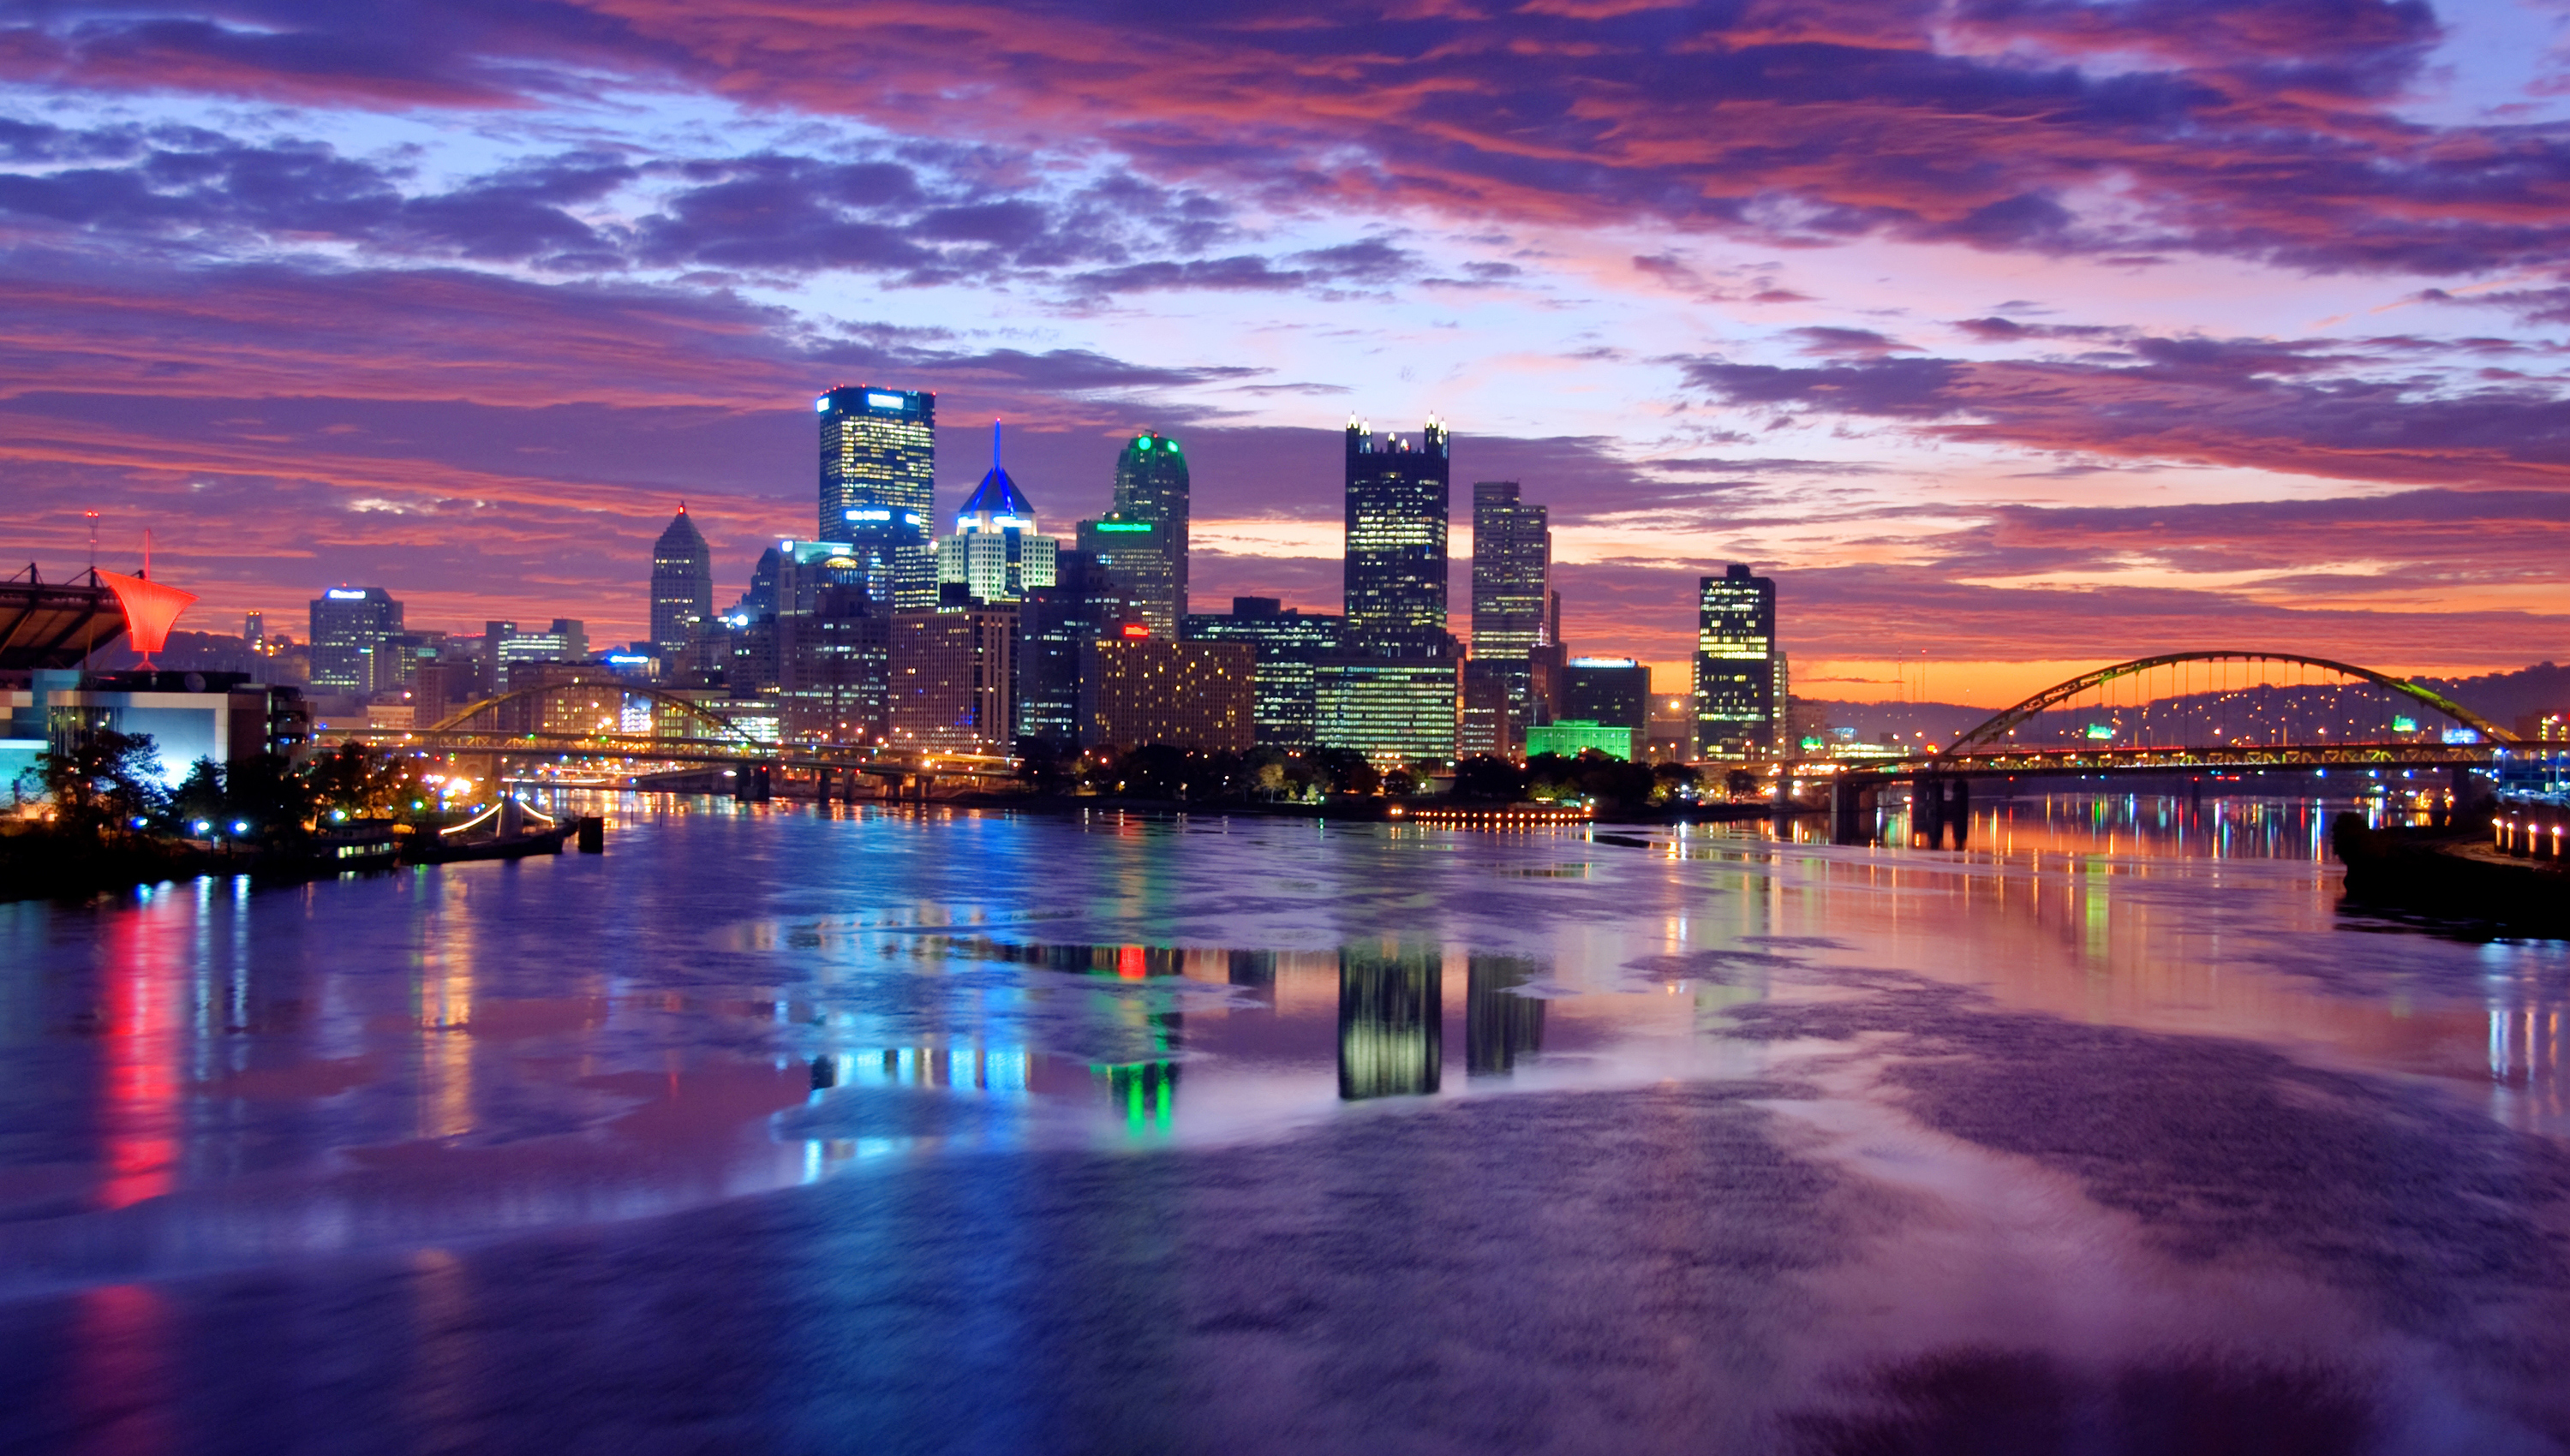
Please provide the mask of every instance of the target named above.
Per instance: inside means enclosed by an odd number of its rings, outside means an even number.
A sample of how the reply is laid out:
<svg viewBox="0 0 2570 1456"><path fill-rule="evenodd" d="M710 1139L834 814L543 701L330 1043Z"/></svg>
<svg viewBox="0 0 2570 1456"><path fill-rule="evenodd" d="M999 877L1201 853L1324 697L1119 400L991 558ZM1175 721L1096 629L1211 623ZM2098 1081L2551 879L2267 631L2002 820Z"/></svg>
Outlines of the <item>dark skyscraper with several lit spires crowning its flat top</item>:
<svg viewBox="0 0 2570 1456"><path fill-rule="evenodd" d="M1347 421L1347 634L1367 657L1444 657L1447 455L1429 416L1419 444Z"/></svg>

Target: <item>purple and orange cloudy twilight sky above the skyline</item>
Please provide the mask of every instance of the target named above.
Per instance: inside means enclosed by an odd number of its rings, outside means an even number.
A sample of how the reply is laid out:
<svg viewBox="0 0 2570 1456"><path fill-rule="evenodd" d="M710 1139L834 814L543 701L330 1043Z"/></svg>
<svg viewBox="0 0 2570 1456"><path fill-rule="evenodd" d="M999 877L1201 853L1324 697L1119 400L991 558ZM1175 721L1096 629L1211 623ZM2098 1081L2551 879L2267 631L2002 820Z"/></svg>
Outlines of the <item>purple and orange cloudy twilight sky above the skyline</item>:
<svg viewBox="0 0 2570 1456"><path fill-rule="evenodd" d="M1573 652L2007 704L2570 657L2570 0L0 0L10 570L303 634L642 634L810 532L812 395L1192 460L1198 609L1336 611L1342 429L1552 508Z"/></svg>

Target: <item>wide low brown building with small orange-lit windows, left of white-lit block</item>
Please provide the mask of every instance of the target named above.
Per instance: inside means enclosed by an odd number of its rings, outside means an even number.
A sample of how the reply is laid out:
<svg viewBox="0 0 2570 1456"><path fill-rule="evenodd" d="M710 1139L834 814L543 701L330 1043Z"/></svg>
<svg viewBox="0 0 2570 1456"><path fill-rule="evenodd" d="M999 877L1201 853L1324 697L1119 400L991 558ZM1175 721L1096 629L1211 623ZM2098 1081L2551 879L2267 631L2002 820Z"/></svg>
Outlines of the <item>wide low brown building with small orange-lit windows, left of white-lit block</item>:
<svg viewBox="0 0 2570 1456"><path fill-rule="evenodd" d="M1108 637L1079 668L1079 747L1164 742L1198 752L1257 745L1257 652L1246 642Z"/></svg>

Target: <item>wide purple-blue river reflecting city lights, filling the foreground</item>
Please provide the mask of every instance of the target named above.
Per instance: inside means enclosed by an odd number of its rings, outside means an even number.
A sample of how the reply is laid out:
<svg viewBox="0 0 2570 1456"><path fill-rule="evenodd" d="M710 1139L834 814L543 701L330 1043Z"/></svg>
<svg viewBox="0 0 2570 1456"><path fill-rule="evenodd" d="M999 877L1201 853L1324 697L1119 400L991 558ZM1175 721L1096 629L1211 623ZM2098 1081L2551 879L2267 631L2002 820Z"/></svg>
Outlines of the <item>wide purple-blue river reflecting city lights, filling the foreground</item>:
<svg viewBox="0 0 2570 1456"><path fill-rule="evenodd" d="M0 1443L2570 1448L2570 945L2328 804L594 806L0 906Z"/></svg>

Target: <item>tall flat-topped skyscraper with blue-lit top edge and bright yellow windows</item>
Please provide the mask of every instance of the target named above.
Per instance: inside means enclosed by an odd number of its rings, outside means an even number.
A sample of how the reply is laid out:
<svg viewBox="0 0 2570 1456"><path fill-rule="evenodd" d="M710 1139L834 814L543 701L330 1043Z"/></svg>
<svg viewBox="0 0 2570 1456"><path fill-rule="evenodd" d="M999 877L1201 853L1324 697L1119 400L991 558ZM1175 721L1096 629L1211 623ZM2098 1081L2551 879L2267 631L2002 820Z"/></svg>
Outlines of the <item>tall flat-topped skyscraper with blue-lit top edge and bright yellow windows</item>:
<svg viewBox="0 0 2570 1456"><path fill-rule="evenodd" d="M820 532L889 580L894 606L935 606L938 395L840 385L820 413Z"/></svg>

